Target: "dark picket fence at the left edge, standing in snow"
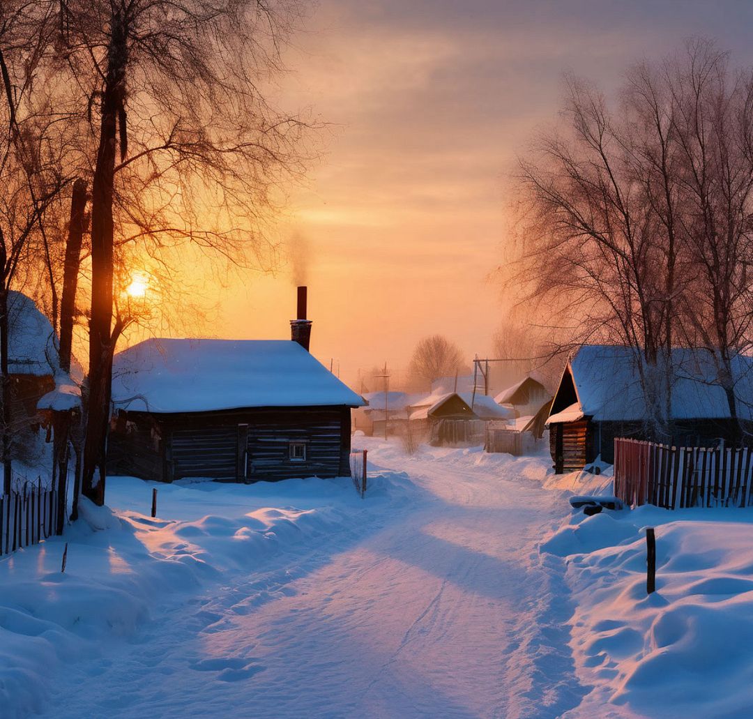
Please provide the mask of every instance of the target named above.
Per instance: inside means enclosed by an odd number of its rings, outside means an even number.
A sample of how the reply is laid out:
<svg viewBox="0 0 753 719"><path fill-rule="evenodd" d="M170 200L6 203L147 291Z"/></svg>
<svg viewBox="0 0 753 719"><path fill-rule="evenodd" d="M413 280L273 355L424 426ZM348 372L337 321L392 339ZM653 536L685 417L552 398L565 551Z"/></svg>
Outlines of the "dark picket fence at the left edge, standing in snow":
<svg viewBox="0 0 753 719"><path fill-rule="evenodd" d="M57 529L57 492L41 480L0 497L0 556L38 544Z"/></svg>

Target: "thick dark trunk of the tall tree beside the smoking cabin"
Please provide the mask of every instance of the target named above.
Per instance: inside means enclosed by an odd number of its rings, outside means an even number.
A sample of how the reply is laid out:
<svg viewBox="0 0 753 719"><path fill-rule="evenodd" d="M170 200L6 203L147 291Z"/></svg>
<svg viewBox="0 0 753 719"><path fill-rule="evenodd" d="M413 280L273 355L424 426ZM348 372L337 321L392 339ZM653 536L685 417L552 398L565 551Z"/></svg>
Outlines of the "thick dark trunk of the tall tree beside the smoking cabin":
<svg viewBox="0 0 753 719"><path fill-rule="evenodd" d="M89 328L87 432L81 491L95 504L105 502L105 452L110 411L112 345L112 254L117 118L125 102L127 28L114 13L108 47L108 72L102 96L99 150L92 184L92 306ZM124 128L121 128L124 132Z"/></svg>

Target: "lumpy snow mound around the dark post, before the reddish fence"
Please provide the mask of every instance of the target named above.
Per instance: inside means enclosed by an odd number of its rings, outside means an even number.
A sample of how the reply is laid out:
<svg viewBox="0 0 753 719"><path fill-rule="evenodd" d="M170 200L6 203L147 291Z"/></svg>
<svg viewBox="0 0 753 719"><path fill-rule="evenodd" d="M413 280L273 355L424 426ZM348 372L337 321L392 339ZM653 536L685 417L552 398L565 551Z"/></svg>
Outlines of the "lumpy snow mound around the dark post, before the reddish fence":
<svg viewBox="0 0 753 719"><path fill-rule="evenodd" d="M657 537L650 596L646 526ZM578 602L572 644L594 689L573 716L604 705L651 717L750 716L753 513L573 513L541 549L567 558Z"/></svg>

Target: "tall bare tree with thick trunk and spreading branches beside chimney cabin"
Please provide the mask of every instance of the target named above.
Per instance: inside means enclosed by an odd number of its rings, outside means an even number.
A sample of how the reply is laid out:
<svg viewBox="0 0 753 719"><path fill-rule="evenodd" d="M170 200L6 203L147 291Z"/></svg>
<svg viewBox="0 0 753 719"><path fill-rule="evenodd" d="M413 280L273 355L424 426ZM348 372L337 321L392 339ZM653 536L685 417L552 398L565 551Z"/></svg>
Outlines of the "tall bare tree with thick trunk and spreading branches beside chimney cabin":
<svg viewBox="0 0 753 719"><path fill-rule="evenodd" d="M83 492L102 503L120 248L156 257L193 242L231 262L261 261L276 188L301 172L305 123L273 111L264 87L296 2L69 0L54 72L95 116L91 314ZM67 68L67 70L66 70ZM52 71L51 71L52 72ZM96 117L96 116L95 116Z"/></svg>

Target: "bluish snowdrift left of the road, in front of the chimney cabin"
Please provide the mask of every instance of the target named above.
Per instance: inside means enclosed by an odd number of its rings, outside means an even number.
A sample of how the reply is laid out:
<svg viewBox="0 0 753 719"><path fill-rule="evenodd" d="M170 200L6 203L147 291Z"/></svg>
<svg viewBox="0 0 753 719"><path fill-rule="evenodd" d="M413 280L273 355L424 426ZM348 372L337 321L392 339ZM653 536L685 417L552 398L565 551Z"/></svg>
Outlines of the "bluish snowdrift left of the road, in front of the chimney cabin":
<svg viewBox="0 0 753 719"><path fill-rule="evenodd" d="M415 492L405 474L372 473L369 482L361 500L349 477L253 486L108 478L117 510L83 500L80 521L64 537L0 562L0 713L20 719L43 711L52 672L128 640L167 599L180 605L233 574L284 569L291 553L325 550L343 532L355 537L376 510ZM142 513L153 486L154 519Z"/></svg>

